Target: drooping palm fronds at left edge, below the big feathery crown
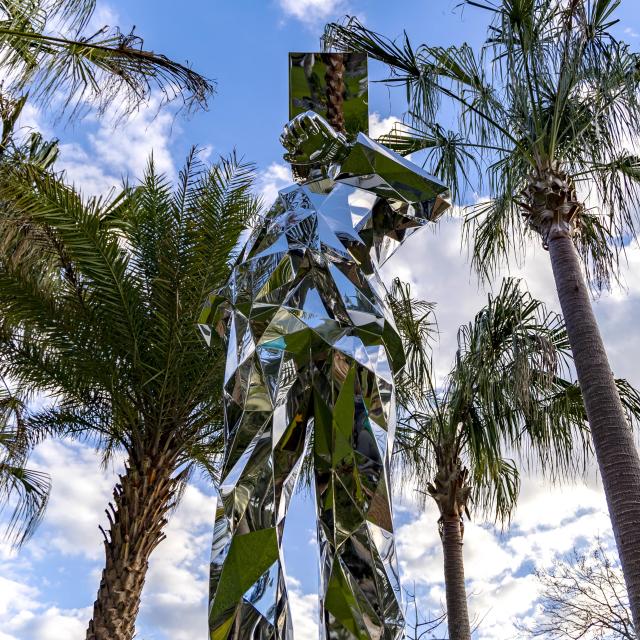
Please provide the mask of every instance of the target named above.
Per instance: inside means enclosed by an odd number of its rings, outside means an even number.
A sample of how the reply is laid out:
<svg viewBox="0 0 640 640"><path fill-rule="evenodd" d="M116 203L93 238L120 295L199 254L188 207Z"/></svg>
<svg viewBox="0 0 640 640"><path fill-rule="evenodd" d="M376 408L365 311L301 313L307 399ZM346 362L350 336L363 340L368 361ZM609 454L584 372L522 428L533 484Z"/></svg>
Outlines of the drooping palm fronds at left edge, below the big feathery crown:
<svg viewBox="0 0 640 640"><path fill-rule="evenodd" d="M13 505L7 533L18 546L33 534L49 497L49 477L25 466L25 401L0 378L0 510Z"/></svg>

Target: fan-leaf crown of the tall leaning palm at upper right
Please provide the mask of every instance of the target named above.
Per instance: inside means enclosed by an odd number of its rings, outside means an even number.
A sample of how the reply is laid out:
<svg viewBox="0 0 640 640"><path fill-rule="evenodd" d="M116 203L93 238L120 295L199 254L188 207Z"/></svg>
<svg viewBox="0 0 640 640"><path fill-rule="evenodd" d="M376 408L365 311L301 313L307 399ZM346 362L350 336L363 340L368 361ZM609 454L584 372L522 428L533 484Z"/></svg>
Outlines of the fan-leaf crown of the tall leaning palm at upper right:
<svg viewBox="0 0 640 640"><path fill-rule="evenodd" d="M597 203L576 240L596 288L615 276L620 251L637 234L640 57L611 33L619 4L463 0L490 19L479 50L416 48L406 34L397 44L355 18L327 27L326 44L366 51L389 65L386 82L406 89L409 126L386 139L402 152L428 149L433 170L456 191L456 176L473 176L476 193L488 192L466 217L485 277L525 250L520 198L541 168L558 167L583 202ZM442 108L454 110L457 131L434 128Z"/></svg>

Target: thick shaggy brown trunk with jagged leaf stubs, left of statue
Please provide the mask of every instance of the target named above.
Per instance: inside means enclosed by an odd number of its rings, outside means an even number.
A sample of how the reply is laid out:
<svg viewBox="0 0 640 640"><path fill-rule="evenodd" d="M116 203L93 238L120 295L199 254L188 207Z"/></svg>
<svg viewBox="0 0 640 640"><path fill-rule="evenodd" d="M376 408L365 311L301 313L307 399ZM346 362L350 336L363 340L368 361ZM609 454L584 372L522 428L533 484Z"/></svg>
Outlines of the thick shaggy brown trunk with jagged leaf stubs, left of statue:
<svg viewBox="0 0 640 640"><path fill-rule="evenodd" d="M166 514L177 480L171 456L146 457L129 463L113 492L104 532L105 567L87 640L131 640L140 607L149 557L164 539Z"/></svg>

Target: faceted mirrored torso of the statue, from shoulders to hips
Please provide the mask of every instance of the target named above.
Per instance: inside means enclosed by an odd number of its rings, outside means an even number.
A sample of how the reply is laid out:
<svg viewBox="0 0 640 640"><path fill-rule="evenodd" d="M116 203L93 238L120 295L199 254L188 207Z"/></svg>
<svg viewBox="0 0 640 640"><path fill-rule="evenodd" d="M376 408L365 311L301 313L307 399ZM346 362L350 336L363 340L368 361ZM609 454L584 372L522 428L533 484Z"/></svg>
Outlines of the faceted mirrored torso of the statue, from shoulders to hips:
<svg viewBox="0 0 640 640"><path fill-rule="evenodd" d="M255 319L256 346L307 358L301 340L312 351L330 345L357 360L376 359L379 374L391 382L392 371L402 366L402 349L375 269L379 261L370 255L376 251L357 230L385 203L374 193L341 183L324 192L327 183L292 185L280 192L220 294L236 312L251 308L247 319ZM386 248L378 247L378 253ZM382 368L387 366L385 351L395 356L387 371Z"/></svg>

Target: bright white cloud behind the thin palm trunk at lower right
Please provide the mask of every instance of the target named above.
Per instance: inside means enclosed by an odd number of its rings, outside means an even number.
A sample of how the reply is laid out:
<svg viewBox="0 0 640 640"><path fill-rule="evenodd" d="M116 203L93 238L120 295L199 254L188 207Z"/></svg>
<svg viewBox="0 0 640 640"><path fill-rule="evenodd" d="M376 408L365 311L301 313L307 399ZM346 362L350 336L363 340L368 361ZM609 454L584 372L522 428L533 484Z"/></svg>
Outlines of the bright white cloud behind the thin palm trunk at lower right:
<svg viewBox="0 0 640 640"><path fill-rule="evenodd" d="M403 513L415 510L405 501ZM405 586L416 587L422 611L438 610L444 601L443 557L437 532L438 513L423 513L398 528L398 554ZM479 640L516 637L514 622L534 610L540 589L533 569L550 566L574 547L602 539L612 545L602 492L582 484L549 487L529 478L511 528L490 523L465 524L465 576L470 615L481 621Z"/></svg>

